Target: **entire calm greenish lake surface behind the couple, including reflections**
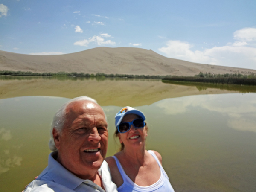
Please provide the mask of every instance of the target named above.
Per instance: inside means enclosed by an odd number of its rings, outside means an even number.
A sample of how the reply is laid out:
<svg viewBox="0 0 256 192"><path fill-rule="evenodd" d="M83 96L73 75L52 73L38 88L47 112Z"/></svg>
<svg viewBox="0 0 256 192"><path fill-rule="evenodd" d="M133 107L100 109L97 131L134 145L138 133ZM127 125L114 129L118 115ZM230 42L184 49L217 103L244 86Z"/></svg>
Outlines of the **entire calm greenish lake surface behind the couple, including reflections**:
<svg viewBox="0 0 256 192"><path fill-rule="evenodd" d="M256 191L256 87L158 80L0 77L0 192L21 191L47 166L49 125L68 98L98 100L114 116L145 113L147 148L159 151L176 192Z"/></svg>

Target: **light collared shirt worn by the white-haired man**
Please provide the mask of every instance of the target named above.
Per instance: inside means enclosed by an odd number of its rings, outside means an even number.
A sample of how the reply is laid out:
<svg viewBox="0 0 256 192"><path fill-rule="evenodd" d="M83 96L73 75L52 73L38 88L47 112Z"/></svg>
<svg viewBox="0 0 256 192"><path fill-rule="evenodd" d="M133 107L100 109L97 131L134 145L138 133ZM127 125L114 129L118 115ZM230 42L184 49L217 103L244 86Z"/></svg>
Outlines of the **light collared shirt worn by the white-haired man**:
<svg viewBox="0 0 256 192"><path fill-rule="evenodd" d="M49 154L48 166L37 179L29 183L25 192L117 192L115 183L111 180L108 163L104 160L98 170L102 177L105 190L93 183L73 175L65 169L53 156L57 151Z"/></svg>

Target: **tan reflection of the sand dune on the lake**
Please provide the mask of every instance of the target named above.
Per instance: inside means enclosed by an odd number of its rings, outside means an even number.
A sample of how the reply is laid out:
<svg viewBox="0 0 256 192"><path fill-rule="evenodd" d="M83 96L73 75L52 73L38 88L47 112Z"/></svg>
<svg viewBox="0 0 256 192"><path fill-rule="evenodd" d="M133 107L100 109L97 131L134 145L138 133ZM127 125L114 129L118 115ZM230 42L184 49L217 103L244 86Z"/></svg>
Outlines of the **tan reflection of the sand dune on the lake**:
<svg viewBox="0 0 256 192"><path fill-rule="evenodd" d="M165 84L159 80L65 80L57 79L27 79L0 80L0 99L20 96L58 96L74 98L90 96L100 105L141 106L150 105L166 98L189 95L237 93L238 91L208 88L198 91L194 86Z"/></svg>

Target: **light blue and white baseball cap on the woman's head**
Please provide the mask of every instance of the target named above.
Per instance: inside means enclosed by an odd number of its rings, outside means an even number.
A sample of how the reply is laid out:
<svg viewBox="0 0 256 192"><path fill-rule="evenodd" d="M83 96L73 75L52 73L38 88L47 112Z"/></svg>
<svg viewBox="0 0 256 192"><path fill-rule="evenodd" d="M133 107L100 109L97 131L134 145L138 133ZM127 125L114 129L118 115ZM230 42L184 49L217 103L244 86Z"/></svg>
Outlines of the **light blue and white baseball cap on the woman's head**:
<svg viewBox="0 0 256 192"><path fill-rule="evenodd" d="M116 123L115 123L116 127L120 124L120 122L122 121L124 116L127 114L135 114L135 115L140 116L143 119L143 121L146 120L145 115L141 111L127 106L127 107L122 108L118 113L116 113L116 117L115 117L116 118Z"/></svg>

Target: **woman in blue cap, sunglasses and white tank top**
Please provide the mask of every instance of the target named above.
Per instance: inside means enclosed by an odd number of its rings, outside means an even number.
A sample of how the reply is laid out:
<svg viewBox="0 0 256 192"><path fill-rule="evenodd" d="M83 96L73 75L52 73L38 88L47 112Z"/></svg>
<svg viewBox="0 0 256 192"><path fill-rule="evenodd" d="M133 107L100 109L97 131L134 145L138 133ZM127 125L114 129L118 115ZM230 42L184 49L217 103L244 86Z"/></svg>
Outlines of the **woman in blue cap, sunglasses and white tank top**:
<svg viewBox="0 0 256 192"><path fill-rule="evenodd" d="M116 114L121 150L107 157L112 180L119 192L174 192L157 151L145 150L148 127L144 114L131 107Z"/></svg>

